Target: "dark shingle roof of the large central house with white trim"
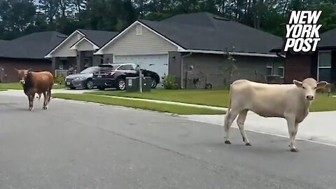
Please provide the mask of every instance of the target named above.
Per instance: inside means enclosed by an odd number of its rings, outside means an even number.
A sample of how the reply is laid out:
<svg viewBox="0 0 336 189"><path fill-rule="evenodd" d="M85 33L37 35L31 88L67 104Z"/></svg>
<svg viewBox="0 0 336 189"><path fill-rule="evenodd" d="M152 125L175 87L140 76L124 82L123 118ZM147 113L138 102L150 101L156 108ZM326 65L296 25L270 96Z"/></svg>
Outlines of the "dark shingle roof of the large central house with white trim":
<svg viewBox="0 0 336 189"><path fill-rule="evenodd" d="M279 36L211 13L175 15L161 22L150 20L138 20L137 22L145 25L155 34L159 34L166 41L177 45L180 52L223 54L233 45L235 47L233 51L241 55L275 56L270 55L269 49L282 42ZM130 29L130 27L127 29ZM113 40L119 38L122 33ZM102 49L109 43L106 43L97 54L102 53Z"/></svg>

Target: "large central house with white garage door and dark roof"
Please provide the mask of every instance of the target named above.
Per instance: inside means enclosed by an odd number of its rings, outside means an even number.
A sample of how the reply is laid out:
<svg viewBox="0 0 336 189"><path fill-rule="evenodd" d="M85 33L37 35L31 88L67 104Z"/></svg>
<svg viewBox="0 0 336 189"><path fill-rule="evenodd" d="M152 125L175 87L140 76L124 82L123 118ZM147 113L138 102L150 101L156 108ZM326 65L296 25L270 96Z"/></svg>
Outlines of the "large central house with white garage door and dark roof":
<svg viewBox="0 0 336 189"><path fill-rule="evenodd" d="M195 87L197 81L200 87L206 82L221 87L239 78L265 82L270 74L282 77L283 59L269 52L281 43L279 36L238 22L191 13L161 22L137 20L94 55L134 62L160 76L176 76L181 87ZM227 50L237 69L230 66Z"/></svg>

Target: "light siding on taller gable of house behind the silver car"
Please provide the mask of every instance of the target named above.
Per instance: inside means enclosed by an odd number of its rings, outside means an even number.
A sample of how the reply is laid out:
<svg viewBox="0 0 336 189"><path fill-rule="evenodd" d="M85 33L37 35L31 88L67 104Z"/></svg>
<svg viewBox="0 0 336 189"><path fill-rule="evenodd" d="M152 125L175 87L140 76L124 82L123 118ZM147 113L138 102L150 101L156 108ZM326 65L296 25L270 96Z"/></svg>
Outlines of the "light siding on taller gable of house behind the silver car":
<svg viewBox="0 0 336 189"><path fill-rule="evenodd" d="M71 46L75 44L82 36L75 34L71 36L65 43L63 43L57 50L52 52L52 57L76 57L77 51L71 50Z"/></svg>

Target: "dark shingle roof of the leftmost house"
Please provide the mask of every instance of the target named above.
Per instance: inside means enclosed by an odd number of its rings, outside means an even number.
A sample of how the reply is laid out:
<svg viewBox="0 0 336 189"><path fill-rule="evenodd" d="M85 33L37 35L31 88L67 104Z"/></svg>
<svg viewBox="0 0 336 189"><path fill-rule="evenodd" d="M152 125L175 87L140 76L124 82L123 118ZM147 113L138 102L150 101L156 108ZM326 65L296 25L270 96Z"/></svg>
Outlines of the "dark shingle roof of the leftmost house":
<svg viewBox="0 0 336 189"><path fill-rule="evenodd" d="M44 59L46 53L64 39L64 34L57 31L43 31L0 41L0 57Z"/></svg>

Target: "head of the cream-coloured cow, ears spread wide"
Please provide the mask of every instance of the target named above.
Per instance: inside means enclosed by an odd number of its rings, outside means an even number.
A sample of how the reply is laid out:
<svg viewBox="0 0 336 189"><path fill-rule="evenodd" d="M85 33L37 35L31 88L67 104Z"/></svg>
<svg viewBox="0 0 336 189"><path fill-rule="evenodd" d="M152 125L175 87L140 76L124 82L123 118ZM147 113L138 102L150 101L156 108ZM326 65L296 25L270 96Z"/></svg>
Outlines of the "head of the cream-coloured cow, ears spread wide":
<svg viewBox="0 0 336 189"><path fill-rule="evenodd" d="M298 80L293 80L293 83L304 90L304 96L308 101L314 100L316 90L323 89L328 85L328 82L321 81L318 82L314 78L306 78L302 82Z"/></svg>

